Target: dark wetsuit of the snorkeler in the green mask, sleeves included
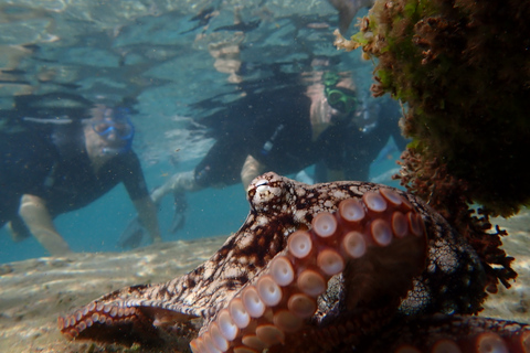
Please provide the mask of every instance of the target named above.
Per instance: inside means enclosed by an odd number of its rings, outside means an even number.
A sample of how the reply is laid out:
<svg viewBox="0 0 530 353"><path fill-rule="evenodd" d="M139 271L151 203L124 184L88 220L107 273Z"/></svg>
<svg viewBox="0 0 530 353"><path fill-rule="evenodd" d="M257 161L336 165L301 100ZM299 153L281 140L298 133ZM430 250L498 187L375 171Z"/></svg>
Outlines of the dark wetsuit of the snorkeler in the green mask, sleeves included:
<svg viewBox="0 0 530 353"><path fill-rule="evenodd" d="M241 182L247 156L280 174L296 173L317 163L318 182L326 181L327 169L343 170L349 180L368 180L371 162L391 136L400 150L407 143L399 127L399 105L390 98L380 99L372 107L373 126L362 130L352 120L339 121L316 141L311 141L310 105L304 89L290 87L266 92L257 99L247 96L215 114L213 120L221 132L214 136L215 145L195 168L195 182L203 188Z"/></svg>

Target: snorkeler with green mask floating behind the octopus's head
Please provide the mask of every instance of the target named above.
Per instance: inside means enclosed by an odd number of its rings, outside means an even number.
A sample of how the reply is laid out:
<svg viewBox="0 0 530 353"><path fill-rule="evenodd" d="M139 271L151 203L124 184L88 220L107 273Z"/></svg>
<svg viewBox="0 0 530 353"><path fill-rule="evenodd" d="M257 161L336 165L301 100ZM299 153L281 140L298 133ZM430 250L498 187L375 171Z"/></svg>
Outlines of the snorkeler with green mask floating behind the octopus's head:
<svg viewBox="0 0 530 353"><path fill-rule="evenodd" d="M248 94L210 117L220 130L214 146L193 171L172 175L151 199L159 203L172 193L182 200L183 192L239 182L246 189L264 172L290 174L311 164L318 165L317 182L368 180L370 163L391 136L400 149L406 145L398 104L379 101L360 103L352 83L338 75L309 87ZM120 243L137 231L129 225Z"/></svg>

